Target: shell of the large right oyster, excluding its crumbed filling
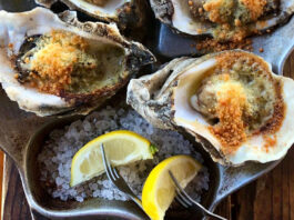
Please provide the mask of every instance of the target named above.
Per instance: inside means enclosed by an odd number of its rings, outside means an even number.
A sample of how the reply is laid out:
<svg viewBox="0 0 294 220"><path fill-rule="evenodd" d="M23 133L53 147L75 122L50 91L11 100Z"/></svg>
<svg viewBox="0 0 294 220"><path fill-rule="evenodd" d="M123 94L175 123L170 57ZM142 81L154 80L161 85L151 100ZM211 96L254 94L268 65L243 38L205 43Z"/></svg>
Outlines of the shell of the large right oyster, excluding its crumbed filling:
<svg viewBox="0 0 294 220"><path fill-rule="evenodd" d="M265 78L262 78L261 84L268 86L268 91L272 91L271 86L277 88L277 90L273 90L276 100L273 102L272 109L270 108L267 111L270 117L264 117L261 126L247 134L246 139L242 140L233 152L227 152L227 146L211 130L211 128L217 128L220 121L211 122L210 118L204 114L205 112L195 110L191 106L191 91L205 90L200 84L205 84L207 82L205 80L211 79L210 76L213 76L211 71L217 67L217 59L223 54L232 53L256 61L258 64L253 64L252 68L263 68L266 72L264 74ZM234 59L231 60L234 62ZM226 62L230 61L226 60ZM242 73L237 72L241 76ZM258 79L257 74L255 78ZM227 92L222 93L222 91L226 90L221 89L219 91L224 97L229 96ZM261 89L260 94L263 96L262 93L263 89ZM257 104L260 103L260 94L255 94L258 97L257 99L252 99ZM204 99L207 97L204 96ZM250 99L250 96L246 98ZM267 96L265 96L264 100L267 100L267 102L261 109L265 109L267 103L272 103ZM242 99L237 100L237 102L241 101ZM265 163L278 160L286 154L294 142L292 133L294 129L294 81L285 77L275 76L271 70L271 66L262 58L240 50L213 53L202 58L174 59L153 74L131 80L128 87L126 102L148 121L161 129L180 129L191 133L210 152L213 160L222 164L240 166L246 161ZM213 102L213 99L210 99L209 104L211 102ZM271 104L267 106L271 107ZM203 104L200 104L200 107L203 108ZM232 108L230 111L232 111ZM227 116L234 114L229 113ZM230 120L234 121L234 118L231 117ZM229 126L234 124L230 120L226 121ZM277 124L276 129L271 130L271 126L275 128L275 124ZM239 136L234 138L239 138Z"/></svg>

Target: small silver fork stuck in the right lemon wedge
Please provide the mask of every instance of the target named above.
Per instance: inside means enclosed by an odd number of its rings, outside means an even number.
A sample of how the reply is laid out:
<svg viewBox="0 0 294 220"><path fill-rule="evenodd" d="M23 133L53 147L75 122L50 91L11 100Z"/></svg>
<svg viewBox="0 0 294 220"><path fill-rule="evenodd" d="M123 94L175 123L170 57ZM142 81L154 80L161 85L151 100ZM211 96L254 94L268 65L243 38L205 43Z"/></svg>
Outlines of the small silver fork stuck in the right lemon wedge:
<svg viewBox="0 0 294 220"><path fill-rule="evenodd" d="M199 211L202 212L203 216L206 217L211 217L214 219L220 219L220 220L227 220L223 217L220 217L217 214L212 213L211 211L209 211L207 209L205 209L202 204L200 204L199 202L196 202L195 200L193 200L180 186L180 183L178 182L178 180L175 179L175 177L173 176L173 173L169 170L169 173L172 178L172 181L175 184L175 189L176 189L176 196L175 196L175 200L182 204L184 208L191 208L191 209L196 209Z"/></svg>

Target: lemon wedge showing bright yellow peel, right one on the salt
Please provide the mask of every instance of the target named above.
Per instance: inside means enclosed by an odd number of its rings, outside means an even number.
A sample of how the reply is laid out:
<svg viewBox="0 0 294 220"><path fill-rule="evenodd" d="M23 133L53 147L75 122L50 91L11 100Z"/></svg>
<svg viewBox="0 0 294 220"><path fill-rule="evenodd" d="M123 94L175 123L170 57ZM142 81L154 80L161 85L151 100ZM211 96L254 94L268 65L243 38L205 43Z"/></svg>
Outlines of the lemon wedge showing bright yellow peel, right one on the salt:
<svg viewBox="0 0 294 220"><path fill-rule="evenodd" d="M175 156L159 163L149 174L142 192L142 206L152 220L163 220L175 197L175 187L169 174L172 171L180 186L193 180L201 164L189 156Z"/></svg>

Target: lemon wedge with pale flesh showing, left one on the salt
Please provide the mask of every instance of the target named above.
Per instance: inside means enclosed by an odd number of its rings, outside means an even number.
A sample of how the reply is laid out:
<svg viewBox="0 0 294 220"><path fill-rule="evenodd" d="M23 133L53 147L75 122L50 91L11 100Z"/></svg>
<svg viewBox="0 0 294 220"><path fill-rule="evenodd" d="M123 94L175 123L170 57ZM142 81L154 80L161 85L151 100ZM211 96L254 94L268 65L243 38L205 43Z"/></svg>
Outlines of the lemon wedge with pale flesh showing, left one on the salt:
<svg viewBox="0 0 294 220"><path fill-rule="evenodd" d="M113 166L152 159L156 151L149 140L132 131L120 130L100 136L74 154L71 162L71 187L104 172L101 143L104 144L108 159Z"/></svg>

